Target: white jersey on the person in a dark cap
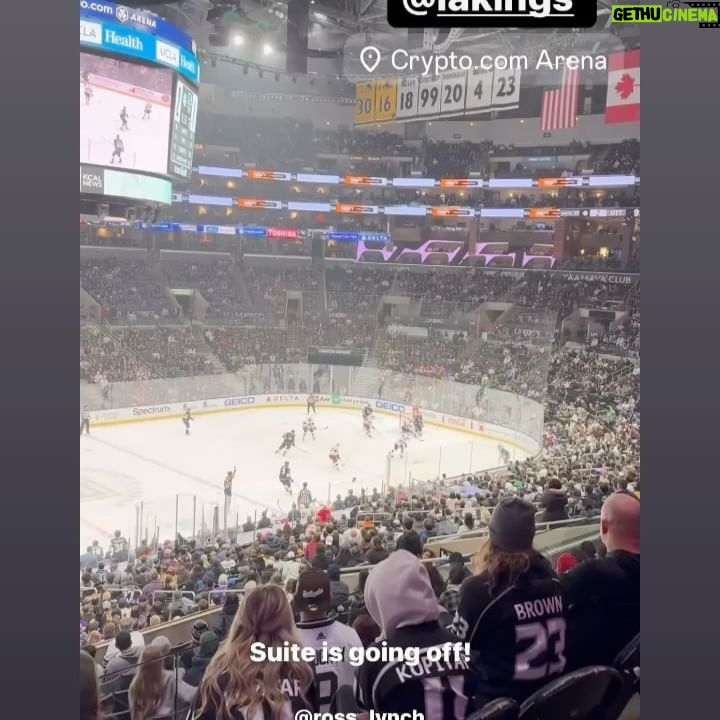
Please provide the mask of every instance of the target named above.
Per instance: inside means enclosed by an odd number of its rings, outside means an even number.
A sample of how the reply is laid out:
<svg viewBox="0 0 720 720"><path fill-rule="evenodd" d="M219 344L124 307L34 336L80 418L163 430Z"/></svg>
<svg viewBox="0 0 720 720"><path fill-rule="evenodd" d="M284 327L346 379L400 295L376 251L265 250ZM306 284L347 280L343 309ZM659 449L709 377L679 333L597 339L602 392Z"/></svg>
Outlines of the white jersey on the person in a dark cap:
<svg viewBox="0 0 720 720"><path fill-rule="evenodd" d="M321 713L326 713L330 710L330 700L335 691L342 685L352 687L355 680L355 668L349 662L349 652L350 648L362 647L362 641L349 625L344 625L331 618L299 622L297 624L297 633L300 642L305 647L318 650L315 677L320 695L319 710ZM327 663L320 662L322 657L319 651L324 647L342 648L343 660Z"/></svg>

